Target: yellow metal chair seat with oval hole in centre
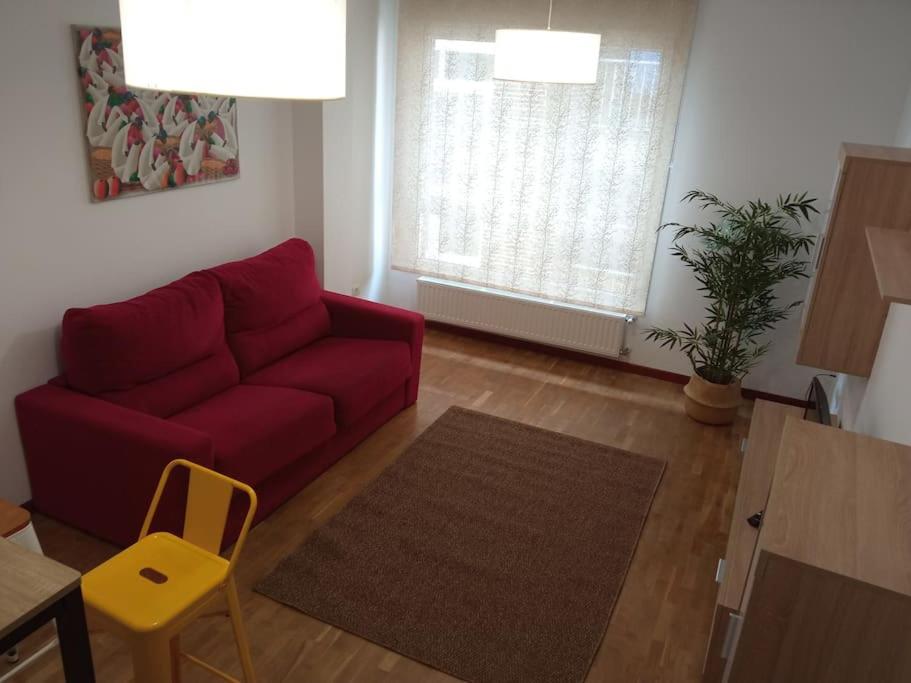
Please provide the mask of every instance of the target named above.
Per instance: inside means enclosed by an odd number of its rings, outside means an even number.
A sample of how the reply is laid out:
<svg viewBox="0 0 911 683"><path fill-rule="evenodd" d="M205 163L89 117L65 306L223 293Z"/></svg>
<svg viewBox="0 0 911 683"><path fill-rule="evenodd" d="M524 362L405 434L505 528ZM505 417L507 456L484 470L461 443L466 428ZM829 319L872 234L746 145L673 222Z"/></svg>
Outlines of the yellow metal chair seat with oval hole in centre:
<svg viewBox="0 0 911 683"><path fill-rule="evenodd" d="M172 534L156 533L82 577L82 592L86 604L112 622L148 633L199 606L227 575L227 560Z"/></svg>

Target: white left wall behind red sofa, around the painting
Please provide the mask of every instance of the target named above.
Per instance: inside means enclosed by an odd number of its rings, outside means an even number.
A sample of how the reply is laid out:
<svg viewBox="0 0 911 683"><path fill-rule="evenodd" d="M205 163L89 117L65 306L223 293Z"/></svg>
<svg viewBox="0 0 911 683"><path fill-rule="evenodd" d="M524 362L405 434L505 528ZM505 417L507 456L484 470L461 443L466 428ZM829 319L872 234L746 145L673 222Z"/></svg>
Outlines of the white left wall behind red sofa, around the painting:
<svg viewBox="0 0 911 683"><path fill-rule="evenodd" d="M238 180L91 204L69 26L116 25L117 2L4 1L0 13L0 497L22 502L30 495L13 396L58 372L64 310L288 237L291 109L240 103ZM187 36L162 26L174 38L162 49L186 48Z"/></svg>

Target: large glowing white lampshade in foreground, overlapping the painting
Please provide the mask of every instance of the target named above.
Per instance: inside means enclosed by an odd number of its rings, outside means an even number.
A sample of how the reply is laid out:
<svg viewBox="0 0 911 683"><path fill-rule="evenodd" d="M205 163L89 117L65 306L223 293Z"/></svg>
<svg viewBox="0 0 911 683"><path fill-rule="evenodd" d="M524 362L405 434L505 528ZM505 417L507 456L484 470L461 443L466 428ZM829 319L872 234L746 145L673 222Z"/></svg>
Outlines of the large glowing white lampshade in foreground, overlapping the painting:
<svg viewBox="0 0 911 683"><path fill-rule="evenodd" d="M345 96L345 0L120 0L120 24L129 86Z"/></svg>

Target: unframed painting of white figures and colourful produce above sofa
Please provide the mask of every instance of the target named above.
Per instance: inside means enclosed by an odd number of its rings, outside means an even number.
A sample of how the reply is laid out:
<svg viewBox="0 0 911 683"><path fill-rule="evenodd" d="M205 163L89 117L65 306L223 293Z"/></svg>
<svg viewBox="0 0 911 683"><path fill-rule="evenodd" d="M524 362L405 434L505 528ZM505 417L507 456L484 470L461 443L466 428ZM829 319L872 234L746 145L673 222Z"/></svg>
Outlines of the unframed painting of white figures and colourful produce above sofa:
<svg viewBox="0 0 911 683"><path fill-rule="evenodd" d="M130 88L120 31L73 30L92 201L237 177L233 97Z"/></svg>

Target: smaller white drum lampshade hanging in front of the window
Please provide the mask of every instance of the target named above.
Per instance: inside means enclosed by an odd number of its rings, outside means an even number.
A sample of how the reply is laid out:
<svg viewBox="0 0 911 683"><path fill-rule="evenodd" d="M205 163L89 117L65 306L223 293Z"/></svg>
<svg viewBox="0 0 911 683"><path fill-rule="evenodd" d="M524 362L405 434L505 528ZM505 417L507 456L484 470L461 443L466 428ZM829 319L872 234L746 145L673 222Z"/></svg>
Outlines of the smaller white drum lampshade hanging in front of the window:
<svg viewBox="0 0 911 683"><path fill-rule="evenodd" d="M494 44L493 77L541 83L595 83L600 33L500 29Z"/></svg>

